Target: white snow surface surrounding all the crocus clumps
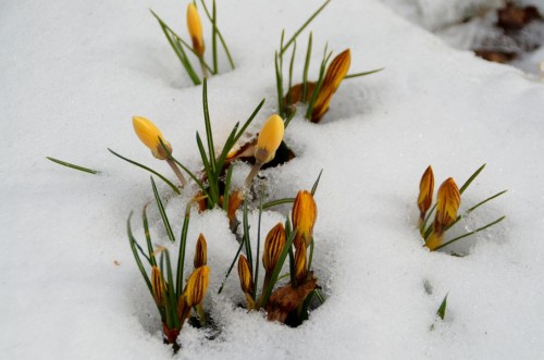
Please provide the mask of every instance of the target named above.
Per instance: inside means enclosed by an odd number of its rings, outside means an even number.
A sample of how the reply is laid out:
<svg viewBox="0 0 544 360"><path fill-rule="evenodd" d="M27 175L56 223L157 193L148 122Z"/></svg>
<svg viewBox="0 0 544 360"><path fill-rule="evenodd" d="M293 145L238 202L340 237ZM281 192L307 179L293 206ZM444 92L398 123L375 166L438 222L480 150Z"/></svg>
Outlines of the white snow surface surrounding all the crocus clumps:
<svg viewBox="0 0 544 360"><path fill-rule="evenodd" d="M215 144L262 98L252 131L276 111L273 54L281 29L293 34L320 4L218 1L236 70L221 57L222 74L208 84ZM0 3L3 359L172 358L126 236L135 211L133 228L144 239L139 214L153 199L149 174L107 148L170 175L133 133L131 117L139 114L157 123L180 160L201 166L195 141L196 131L203 134L201 87L190 86L148 10L186 35L185 7L171 0ZM542 82L452 49L376 1L333 1L310 28L312 77L325 41L336 53L351 49L351 72L385 67L343 83L322 124L297 116L286 132L297 158L262 172L274 199L310 188L323 169L313 266L327 299L290 328L239 308L235 273L217 295L237 243L221 210L194 210L188 256L202 232L211 268L205 307L219 334L210 340L186 324L174 358L541 358ZM297 63L300 74L302 51ZM46 156L102 174L59 166ZM458 246L466 257L429 252L416 228L421 174L432 164L437 185L449 176L461 184L482 163L487 166L463 204L509 191L463 224L471 229L507 219ZM237 182L247 171L236 169ZM166 197L168 187L158 185ZM177 235L189 196L168 204ZM287 208L277 211L263 214L262 236ZM149 216L153 238L165 244L157 209ZM441 321L435 313L446 294Z"/></svg>

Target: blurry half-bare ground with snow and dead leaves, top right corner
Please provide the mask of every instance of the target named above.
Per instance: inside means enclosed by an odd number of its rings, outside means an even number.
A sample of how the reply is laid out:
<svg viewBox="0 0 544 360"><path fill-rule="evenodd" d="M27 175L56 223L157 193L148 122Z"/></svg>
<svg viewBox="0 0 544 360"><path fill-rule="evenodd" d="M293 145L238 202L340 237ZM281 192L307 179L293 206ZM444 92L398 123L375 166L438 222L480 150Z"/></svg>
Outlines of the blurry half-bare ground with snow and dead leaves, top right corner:
<svg viewBox="0 0 544 360"><path fill-rule="evenodd" d="M530 22L515 35L495 26L497 10L514 3L534 5L541 14L544 0L381 0L396 13L413 24L434 32L449 46L460 50L493 50L515 53L512 66L524 72L543 75L544 22ZM544 76L544 75L543 75Z"/></svg>

